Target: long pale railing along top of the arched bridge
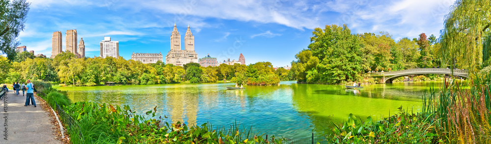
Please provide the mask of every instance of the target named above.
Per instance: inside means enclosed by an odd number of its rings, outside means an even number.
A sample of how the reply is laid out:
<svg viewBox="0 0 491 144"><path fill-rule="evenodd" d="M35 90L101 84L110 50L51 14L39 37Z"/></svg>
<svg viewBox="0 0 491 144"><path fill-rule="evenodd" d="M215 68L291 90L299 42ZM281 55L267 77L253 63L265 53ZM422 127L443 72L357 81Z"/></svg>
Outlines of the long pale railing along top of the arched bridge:
<svg viewBox="0 0 491 144"><path fill-rule="evenodd" d="M373 76L377 75L398 75L403 73L415 73L415 72L447 72L452 73L452 69L441 69L441 68L422 68L422 69L408 69L402 71L392 71L392 72L370 72ZM467 70L455 70L453 69L454 74L468 74Z"/></svg>

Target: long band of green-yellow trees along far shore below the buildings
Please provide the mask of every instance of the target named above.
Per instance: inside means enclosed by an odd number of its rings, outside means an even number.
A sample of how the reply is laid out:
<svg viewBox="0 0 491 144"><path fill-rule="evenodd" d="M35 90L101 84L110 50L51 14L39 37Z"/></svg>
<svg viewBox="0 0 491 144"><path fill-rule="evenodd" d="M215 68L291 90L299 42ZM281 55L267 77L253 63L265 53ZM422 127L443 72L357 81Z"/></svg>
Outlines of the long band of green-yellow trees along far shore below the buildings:
<svg viewBox="0 0 491 144"><path fill-rule="evenodd" d="M200 67L197 63L181 66L157 62L143 64L122 57L76 58L73 53L62 52L54 59L34 57L29 52L16 55L13 61L0 56L3 83L22 82L27 79L51 81L62 85L95 86L107 82L116 84L166 84L179 82L217 82L231 80L239 84L272 85L279 80L293 80L284 68L273 69L270 62L246 65Z"/></svg>

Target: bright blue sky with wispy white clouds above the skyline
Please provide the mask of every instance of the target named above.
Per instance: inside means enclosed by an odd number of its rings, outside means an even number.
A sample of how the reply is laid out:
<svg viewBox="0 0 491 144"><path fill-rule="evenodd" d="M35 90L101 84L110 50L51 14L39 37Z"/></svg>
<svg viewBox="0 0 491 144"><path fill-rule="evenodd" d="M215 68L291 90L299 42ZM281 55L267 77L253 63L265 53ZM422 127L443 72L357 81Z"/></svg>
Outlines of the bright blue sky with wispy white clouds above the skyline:
<svg viewBox="0 0 491 144"><path fill-rule="evenodd" d="M99 56L104 36L119 41L119 55L170 50L174 24L194 35L198 57L246 64L271 62L290 66L310 44L312 31L347 24L352 33L388 32L392 38L440 35L454 0L28 0L31 2L21 46L51 56L52 35L77 29L85 56ZM165 61L165 60L164 60Z"/></svg>

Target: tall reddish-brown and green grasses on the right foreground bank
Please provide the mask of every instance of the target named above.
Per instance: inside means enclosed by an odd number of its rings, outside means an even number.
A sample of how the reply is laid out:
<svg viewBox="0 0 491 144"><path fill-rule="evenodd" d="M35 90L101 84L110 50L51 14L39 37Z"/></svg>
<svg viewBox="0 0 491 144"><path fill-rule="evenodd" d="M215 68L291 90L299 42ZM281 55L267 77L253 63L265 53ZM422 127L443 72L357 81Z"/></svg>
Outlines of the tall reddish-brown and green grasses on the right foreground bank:
<svg viewBox="0 0 491 144"><path fill-rule="evenodd" d="M429 96L423 96L421 114L437 121L436 126L443 128L439 133L449 143L491 143L490 77L489 73L477 76L469 89L448 80L439 92L430 88Z"/></svg>

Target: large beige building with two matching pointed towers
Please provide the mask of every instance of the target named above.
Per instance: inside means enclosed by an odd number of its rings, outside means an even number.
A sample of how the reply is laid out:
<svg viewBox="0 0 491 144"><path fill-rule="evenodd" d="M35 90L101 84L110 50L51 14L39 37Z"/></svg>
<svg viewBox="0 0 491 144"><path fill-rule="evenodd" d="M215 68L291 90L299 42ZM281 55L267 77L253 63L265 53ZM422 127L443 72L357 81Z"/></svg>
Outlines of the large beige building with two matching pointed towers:
<svg viewBox="0 0 491 144"><path fill-rule="evenodd" d="M194 51L194 36L188 25L188 30L184 36L185 49L181 49L181 35L177 31L176 24L170 35L170 51L165 56L165 64L183 66L187 63L198 63L198 54Z"/></svg>

